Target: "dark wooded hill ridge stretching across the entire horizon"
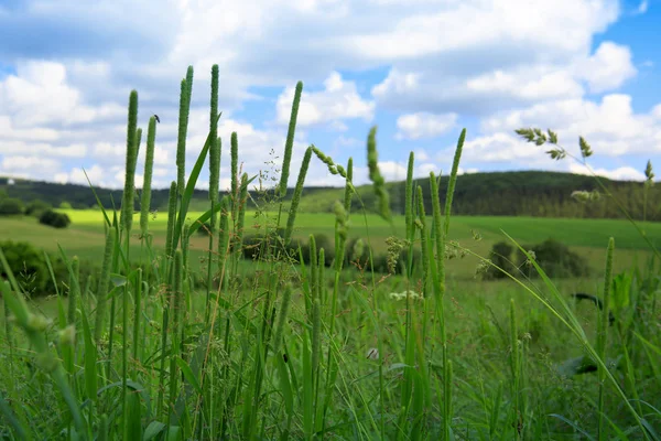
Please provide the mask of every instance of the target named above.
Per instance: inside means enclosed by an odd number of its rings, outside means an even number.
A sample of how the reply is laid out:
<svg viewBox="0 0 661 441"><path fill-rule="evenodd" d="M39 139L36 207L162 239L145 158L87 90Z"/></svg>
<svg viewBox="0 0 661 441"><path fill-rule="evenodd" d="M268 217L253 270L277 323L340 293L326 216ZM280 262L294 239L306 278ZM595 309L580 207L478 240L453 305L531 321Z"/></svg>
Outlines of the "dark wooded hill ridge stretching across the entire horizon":
<svg viewBox="0 0 661 441"><path fill-rule="evenodd" d="M447 176L441 178L442 202L445 201ZM640 182L611 181L603 179L606 186L625 205L636 219L643 217L643 185ZM391 208L394 213L402 213L404 207L404 183L388 183L391 197ZM415 180L415 185L421 185L425 196L425 209L431 213L429 197L429 179ZM490 172L470 173L457 178L457 185L453 201L453 213L458 215L483 216L538 216L538 217L579 217L579 218L621 218L624 215L614 201L602 197L588 204L582 204L572 198L576 190L597 190L598 184L592 176L559 172ZM110 206L111 201L117 205L121 201L121 190L97 189L105 206ZM333 209L333 203L343 198L343 189L337 187L306 187L303 192L300 209L307 213L324 213ZM53 205L68 202L74 208L89 208L96 204L94 194L86 185L55 184L48 182L15 180L9 184L7 179L0 178L0 195L6 193L24 203L42 200ZM152 207L164 211L167 204L167 190L152 191ZM364 206L371 212L375 206L375 194L371 186L358 187L358 193ZM291 197L289 189L285 198ZM254 198L263 195L251 193ZM207 207L207 192L196 190L192 209ZM249 198L249 206L254 204ZM661 220L661 190L659 186L649 189L647 203L647 219ZM358 200L354 209L361 209Z"/></svg>

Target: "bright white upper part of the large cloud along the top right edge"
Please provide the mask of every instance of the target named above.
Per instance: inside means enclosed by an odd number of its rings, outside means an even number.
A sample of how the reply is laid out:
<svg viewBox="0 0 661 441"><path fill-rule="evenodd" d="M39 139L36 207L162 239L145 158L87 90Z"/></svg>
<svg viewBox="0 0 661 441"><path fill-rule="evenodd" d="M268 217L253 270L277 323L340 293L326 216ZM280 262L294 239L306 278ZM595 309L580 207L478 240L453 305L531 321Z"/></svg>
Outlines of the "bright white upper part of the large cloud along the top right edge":
<svg viewBox="0 0 661 441"><path fill-rule="evenodd" d="M407 4L408 6L408 4ZM615 1L449 1L411 8L384 29L342 39L348 50L380 62L437 56L497 46L539 52L581 52L594 32L617 17ZM394 14L393 14L394 15ZM466 32L466 26L470 32ZM543 30L543 32L540 32ZM524 54L519 54L525 56Z"/></svg>

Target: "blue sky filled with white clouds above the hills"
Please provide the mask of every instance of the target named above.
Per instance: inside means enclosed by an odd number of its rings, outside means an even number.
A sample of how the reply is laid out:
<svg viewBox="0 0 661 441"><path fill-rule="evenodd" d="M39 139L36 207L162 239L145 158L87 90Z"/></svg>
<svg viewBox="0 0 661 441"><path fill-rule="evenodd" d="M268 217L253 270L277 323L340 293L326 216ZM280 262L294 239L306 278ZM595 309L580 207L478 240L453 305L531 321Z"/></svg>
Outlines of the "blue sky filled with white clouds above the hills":
<svg viewBox="0 0 661 441"><path fill-rule="evenodd" d="M661 0L0 0L0 175L121 187L136 89L139 127L161 119L153 186L169 187L181 79L192 65L189 172L218 64L224 189L232 131L242 171L278 176L299 80L290 186L310 144L368 182L375 126L389 181L411 151L415 176L447 174L463 128L460 173L587 173L520 127L575 154L583 136L598 174L642 181L661 166L659 23ZM306 184L344 182L313 160Z"/></svg>

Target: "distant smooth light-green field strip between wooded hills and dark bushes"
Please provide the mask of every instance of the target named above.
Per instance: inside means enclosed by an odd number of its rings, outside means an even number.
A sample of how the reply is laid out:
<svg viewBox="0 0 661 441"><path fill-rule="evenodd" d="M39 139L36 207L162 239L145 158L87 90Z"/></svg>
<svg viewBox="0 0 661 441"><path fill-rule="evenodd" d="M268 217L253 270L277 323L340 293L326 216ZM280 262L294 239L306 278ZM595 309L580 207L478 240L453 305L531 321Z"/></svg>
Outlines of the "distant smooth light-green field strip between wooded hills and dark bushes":
<svg viewBox="0 0 661 441"><path fill-rule="evenodd" d="M47 251L57 251L61 244L65 251L80 259L98 261L104 247L102 215L98 211L68 211L72 225L64 230L57 230L40 225L31 217L0 218L0 240L26 240ZM191 219L196 219L201 213L192 213ZM275 216L274 214L268 214ZM154 234L154 246L162 248L165 236L166 219L164 213L159 213L150 220L150 230ZM366 228L369 225L369 229ZM139 216L136 216L138 226ZM301 213L296 217L296 236L306 238L310 234L326 234L333 237L334 217L330 214ZM256 218L253 213L246 216L246 235L254 232L256 227L264 225L264 218ZM648 236L657 246L661 245L661 224L641 224ZM398 235L403 234L403 217L394 217L394 228ZM456 216L452 219L451 238L470 248L480 256L487 256L491 246L499 240L506 240L501 229L512 236L521 245L539 243L546 238L555 238L579 254L589 258L593 268L600 273L603 256L608 237L616 240L616 268L628 268L636 259L643 262L649 251L643 239L636 229L625 220L615 219L548 219L527 217L472 217ZM473 232L479 232L483 240L475 241ZM134 230L131 254L140 255L138 230ZM369 237L377 251L384 250L386 237L393 234L391 226L376 215L354 215L349 236ZM208 239L195 235L191 239L191 261L199 262L208 246ZM448 277L469 281L474 277L478 260L473 257L448 261ZM194 263L195 268L195 263Z"/></svg>

